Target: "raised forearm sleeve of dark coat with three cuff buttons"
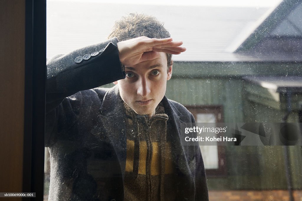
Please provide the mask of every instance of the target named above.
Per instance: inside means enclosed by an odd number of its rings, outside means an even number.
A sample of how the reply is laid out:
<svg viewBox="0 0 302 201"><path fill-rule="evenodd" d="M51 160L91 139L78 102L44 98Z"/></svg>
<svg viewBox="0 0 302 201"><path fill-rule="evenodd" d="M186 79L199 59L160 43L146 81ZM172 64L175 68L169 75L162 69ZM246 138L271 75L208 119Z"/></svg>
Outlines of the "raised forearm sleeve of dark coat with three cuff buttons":
<svg viewBox="0 0 302 201"><path fill-rule="evenodd" d="M65 97L78 91L99 87L125 78L116 38L56 56L47 63L46 112L53 110ZM76 63L76 57L98 52Z"/></svg>

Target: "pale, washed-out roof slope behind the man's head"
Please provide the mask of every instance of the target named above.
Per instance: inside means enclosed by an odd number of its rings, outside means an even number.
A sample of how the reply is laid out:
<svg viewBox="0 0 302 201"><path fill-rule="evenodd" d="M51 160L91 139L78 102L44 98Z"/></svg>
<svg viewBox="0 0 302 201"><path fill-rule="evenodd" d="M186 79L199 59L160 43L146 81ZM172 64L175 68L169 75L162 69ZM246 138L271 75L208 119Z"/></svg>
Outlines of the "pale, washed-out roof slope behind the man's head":
<svg viewBox="0 0 302 201"><path fill-rule="evenodd" d="M47 3L47 57L105 40L115 20L136 11L165 22L173 39L184 42L187 51L173 56L175 61L257 61L229 49L238 36L264 20L268 10L51 1Z"/></svg>

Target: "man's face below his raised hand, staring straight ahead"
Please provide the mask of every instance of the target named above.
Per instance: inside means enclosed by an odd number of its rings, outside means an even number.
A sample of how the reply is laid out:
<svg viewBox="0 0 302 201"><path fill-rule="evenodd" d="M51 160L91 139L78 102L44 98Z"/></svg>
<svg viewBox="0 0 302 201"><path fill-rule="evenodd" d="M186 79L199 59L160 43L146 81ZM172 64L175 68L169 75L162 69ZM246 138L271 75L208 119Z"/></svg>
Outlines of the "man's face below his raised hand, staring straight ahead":
<svg viewBox="0 0 302 201"><path fill-rule="evenodd" d="M167 68L166 54L159 53L156 59L125 66L126 78L114 84L118 84L121 98L136 113L152 116L172 75L172 65L168 73Z"/></svg>

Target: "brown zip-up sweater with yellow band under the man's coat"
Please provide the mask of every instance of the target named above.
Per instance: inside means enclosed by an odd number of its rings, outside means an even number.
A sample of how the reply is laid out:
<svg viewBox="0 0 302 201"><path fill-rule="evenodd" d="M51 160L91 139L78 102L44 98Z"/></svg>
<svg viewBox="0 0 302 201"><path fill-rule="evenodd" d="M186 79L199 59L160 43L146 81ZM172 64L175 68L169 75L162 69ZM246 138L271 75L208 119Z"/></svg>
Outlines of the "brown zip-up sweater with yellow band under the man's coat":
<svg viewBox="0 0 302 201"><path fill-rule="evenodd" d="M174 168L171 142L167 140L168 115L162 104L149 118L138 115L126 103L127 158L124 200L174 200Z"/></svg>

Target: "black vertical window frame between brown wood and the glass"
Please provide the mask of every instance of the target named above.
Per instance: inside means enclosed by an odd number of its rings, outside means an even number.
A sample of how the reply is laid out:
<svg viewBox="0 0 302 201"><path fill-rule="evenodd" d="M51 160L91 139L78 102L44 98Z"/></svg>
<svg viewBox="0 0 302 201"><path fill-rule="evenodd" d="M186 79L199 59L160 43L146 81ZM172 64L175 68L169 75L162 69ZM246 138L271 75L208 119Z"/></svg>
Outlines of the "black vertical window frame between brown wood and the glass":
<svg viewBox="0 0 302 201"><path fill-rule="evenodd" d="M46 0L25 0L23 192L43 200L46 85Z"/></svg>

